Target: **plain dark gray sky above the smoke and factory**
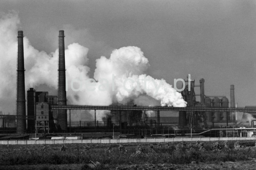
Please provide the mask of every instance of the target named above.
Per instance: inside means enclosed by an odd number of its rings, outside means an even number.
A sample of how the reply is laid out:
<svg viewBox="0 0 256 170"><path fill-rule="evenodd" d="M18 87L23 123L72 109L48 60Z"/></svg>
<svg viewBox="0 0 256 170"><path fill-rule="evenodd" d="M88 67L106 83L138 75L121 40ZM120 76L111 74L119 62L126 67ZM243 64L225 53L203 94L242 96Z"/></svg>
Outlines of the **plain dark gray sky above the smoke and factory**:
<svg viewBox="0 0 256 170"><path fill-rule="evenodd" d="M138 46L154 78L173 84L190 73L205 79L206 95L229 99L234 84L238 106L256 105L253 0L1 0L0 11L11 10L38 50L55 51L62 29L66 45L89 48L91 75L96 58Z"/></svg>

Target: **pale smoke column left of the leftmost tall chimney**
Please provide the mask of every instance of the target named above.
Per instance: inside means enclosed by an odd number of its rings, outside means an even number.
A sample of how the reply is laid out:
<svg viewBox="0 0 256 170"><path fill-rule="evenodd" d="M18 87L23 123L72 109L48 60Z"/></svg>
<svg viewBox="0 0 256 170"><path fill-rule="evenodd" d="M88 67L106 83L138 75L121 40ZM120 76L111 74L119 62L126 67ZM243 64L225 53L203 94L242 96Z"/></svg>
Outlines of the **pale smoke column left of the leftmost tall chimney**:
<svg viewBox="0 0 256 170"><path fill-rule="evenodd" d="M17 57L17 26L19 18L16 14L5 14L0 18L0 110L15 112L15 82Z"/></svg>

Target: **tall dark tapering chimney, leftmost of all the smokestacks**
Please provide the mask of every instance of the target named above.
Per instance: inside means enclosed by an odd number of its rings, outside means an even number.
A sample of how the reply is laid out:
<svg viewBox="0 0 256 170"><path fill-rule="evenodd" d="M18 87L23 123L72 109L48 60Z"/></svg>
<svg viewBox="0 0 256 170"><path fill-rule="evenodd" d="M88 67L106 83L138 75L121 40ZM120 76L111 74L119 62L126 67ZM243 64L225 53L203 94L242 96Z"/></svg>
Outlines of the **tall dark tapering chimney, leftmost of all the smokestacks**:
<svg viewBox="0 0 256 170"><path fill-rule="evenodd" d="M18 31L18 58L17 58L17 100L16 115L17 133L26 132L26 100L25 100L25 69L23 53L23 31Z"/></svg>

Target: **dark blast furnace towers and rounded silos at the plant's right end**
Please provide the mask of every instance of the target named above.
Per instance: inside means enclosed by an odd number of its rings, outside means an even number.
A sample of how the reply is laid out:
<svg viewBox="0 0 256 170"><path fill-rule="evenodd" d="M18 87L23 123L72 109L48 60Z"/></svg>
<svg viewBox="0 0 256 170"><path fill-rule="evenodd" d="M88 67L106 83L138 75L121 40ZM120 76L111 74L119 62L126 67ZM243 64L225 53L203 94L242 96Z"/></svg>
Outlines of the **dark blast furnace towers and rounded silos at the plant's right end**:
<svg viewBox="0 0 256 170"><path fill-rule="evenodd" d="M199 108L228 108L229 100L226 96L206 96L204 94L204 79L200 79L200 85L195 85L195 80L191 79L190 75L184 80L186 82L185 89L181 92L184 100L188 103L187 107L199 107ZM200 87L200 94L195 94L195 87ZM196 96L200 96L200 102L196 101ZM231 103L234 106L234 85L230 86ZM234 107L231 107L234 108ZM199 125L228 125L228 122L236 123L236 118L231 112L199 112L188 111L180 112L179 126L189 127ZM188 120L188 122L187 122Z"/></svg>

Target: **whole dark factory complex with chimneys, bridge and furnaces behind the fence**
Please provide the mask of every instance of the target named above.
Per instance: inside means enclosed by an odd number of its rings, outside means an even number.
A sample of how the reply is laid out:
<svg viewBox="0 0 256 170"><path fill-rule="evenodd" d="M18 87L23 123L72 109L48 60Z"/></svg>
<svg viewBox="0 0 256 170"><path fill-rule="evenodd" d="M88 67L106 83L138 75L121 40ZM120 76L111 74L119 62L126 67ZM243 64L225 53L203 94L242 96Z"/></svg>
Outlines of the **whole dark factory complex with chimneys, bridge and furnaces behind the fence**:
<svg viewBox="0 0 256 170"><path fill-rule="evenodd" d="M191 75L184 79L185 88L181 91L187 107L139 106L132 100L111 105L67 104L63 30L59 31L57 95L37 91L34 87L26 91L23 31L18 31L17 37L16 115L0 112L0 140L35 139L37 135L41 139L63 139L68 135L79 136L79 139L256 135L256 106L237 107L233 84L230 85L229 101L227 96L207 94L205 80L196 82ZM197 91L200 94L196 94ZM75 110L94 112L94 120L72 121ZM102 119L96 116L99 110L106 111Z"/></svg>

